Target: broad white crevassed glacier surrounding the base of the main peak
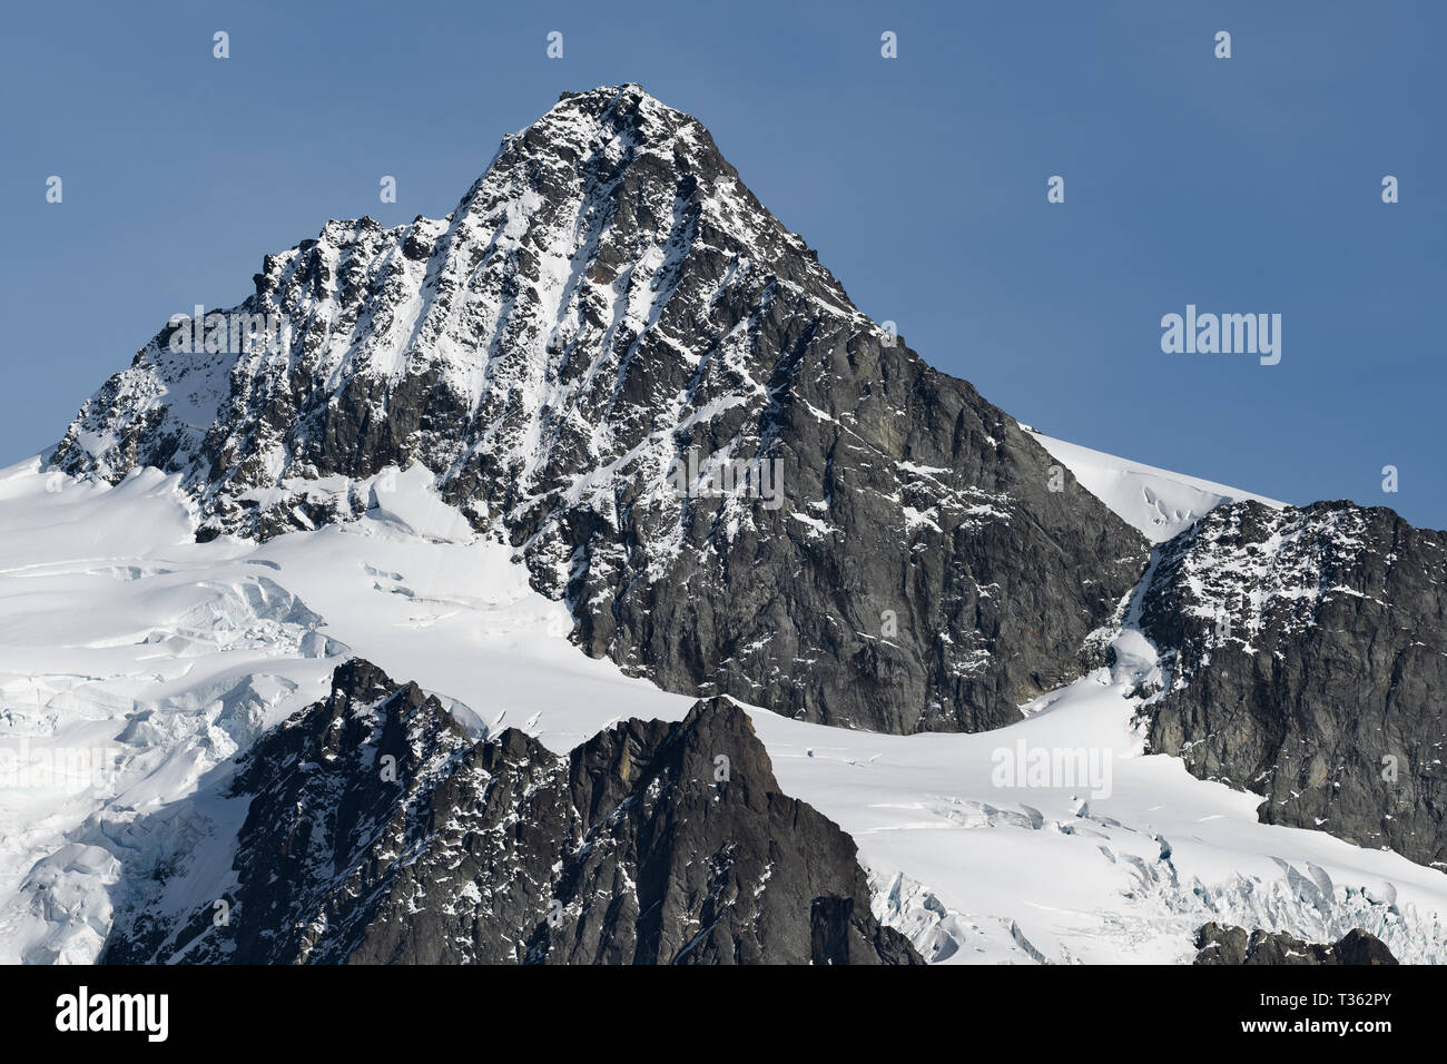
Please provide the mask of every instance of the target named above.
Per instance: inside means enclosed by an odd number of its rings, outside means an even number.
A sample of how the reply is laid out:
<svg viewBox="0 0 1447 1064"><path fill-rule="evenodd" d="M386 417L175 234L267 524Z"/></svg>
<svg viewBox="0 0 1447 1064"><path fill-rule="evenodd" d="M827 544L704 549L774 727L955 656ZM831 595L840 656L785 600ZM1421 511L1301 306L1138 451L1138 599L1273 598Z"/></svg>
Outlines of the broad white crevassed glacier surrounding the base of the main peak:
<svg viewBox="0 0 1447 1064"><path fill-rule="evenodd" d="M1069 462L1055 452L1068 444L1046 446ZM324 696L350 654L453 699L472 728L522 727L559 751L616 718L684 715L692 699L573 647L564 607L443 505L430 473L389 470L370 491L353 524L197 544L177 478L97 486L39 459L0 470L0 961L94 960L123 864L190 869L181 889L203 896L224 884L218 840L245 811L197 808L197 779ZM1198 505L1172 498L1162 514ZM930 960L1179 963L1207 919L1315 941L1362 926L1404 961L1447 960L1441 871L1259 824L1255 796L1142 754L1129 692L1155 651L1129 602L1119 620L1113 670L1000 731L751 714L783 788L854 835L877 912ZM1062 748L1101 772L1077 786L997 774L997 751Z"/></svg>

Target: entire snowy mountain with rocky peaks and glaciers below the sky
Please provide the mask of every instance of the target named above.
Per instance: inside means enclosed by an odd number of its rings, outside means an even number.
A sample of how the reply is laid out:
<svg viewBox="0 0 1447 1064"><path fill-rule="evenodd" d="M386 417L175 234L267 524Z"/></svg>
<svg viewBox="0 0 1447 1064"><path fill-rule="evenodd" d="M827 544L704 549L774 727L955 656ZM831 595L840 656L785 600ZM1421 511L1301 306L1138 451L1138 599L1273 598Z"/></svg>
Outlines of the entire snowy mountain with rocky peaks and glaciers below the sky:
<svg viewBox="0 0 1447 1064"><path fill-rule="evenodd" d="M0 470L0 960L1447 958L1443 534L1023 428L637 85L255 282Z"/></svg>

